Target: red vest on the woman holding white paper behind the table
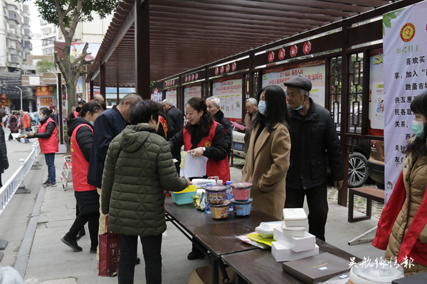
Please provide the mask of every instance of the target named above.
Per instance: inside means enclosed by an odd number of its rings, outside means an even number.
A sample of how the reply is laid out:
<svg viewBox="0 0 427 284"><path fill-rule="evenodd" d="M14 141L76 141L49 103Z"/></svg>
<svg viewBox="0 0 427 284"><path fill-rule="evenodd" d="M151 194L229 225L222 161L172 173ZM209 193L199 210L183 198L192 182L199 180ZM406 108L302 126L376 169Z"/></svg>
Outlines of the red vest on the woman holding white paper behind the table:
<svg viewBox="0 0 427 284"><path fill-rule="evenodd" d="M211 130L209 131L209 136L205 136L204 138L201 138L201 141L197 147L206 147L209 148L212 146L212 141L214 141L215 137L215 129L218 125L218 122L214 121L214 123L211 126ZM185 129L183 131L184 135L184 151L191 150L191 146L193 144L191 143L191 135L190 133ZM217 176L220 180L223 181L223 184L225 185L228 180L230 180L230 165L228 163L228 155L227 158L223 160L213 160L208 159L208 163L206 165L206 175L209 177Z"/></svg>

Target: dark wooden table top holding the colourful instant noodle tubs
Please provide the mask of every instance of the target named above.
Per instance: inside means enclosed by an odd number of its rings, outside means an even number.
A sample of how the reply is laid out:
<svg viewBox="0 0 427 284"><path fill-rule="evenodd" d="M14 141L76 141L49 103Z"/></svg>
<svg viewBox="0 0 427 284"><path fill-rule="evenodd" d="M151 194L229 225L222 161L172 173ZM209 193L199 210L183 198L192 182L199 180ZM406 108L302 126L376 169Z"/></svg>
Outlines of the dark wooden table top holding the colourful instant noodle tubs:
<svg viewBox="0 0 427 284"><path fill-rule="evenodd" d="M166 197L164 208L172 219L216 256L258 249L236 236L252 233L261 222L279 221L253 207L248 216L235 216L230 212L227 219L214 219L193 204L176 204L171 197Z"/></svg>

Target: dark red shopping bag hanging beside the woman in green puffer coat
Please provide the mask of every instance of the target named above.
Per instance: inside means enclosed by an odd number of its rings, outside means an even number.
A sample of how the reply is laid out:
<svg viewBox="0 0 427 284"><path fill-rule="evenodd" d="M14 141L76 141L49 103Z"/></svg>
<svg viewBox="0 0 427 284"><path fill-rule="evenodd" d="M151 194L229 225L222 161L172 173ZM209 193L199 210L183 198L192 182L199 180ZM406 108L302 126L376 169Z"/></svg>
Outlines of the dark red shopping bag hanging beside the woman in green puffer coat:
<svg viewBox="0 0 427 284"><path fill-rule="evenodd" d="M105 217L105 234L99 236L100 240L100 266L99 276L110 276L117 272L119 259L119 238L117 234L108 230L108 217Z"/></svg>

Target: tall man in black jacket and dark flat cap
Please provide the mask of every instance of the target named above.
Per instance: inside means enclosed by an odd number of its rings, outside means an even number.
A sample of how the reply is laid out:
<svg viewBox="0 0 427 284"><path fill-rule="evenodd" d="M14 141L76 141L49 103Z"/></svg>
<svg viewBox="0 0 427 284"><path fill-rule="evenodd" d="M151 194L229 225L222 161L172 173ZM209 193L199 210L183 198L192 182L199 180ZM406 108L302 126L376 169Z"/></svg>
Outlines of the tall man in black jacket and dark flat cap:
<svg viewBox="0 0 427 284"><path fill-rule="evenodd" d="M309 233L325 241L327 219L327 165L334 186L344 179L342 152L330 111L310 98L312 83L292 77L287 89L290 124L290 167L286 176L285 208L302 208L307 196Z"/></svg>

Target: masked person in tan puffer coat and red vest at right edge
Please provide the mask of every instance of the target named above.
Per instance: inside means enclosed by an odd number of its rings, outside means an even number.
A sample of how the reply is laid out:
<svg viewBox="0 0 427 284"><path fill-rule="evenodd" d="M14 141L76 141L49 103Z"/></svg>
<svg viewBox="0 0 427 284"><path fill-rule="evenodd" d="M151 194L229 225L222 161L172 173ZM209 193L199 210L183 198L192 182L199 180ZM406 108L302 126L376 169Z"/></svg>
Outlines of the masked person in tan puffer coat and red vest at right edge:
<svg viewBox="0 0 427 284"><path fill-rule="evenodd" d="M415 114L408 140L403 170L384 207L372 243L386 250L385 259L402 263L407 257L411 266L402 266L405 277L427 271L427 92L411 103Z"/></svg>

